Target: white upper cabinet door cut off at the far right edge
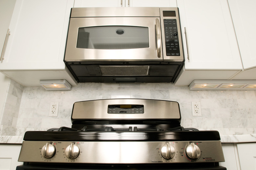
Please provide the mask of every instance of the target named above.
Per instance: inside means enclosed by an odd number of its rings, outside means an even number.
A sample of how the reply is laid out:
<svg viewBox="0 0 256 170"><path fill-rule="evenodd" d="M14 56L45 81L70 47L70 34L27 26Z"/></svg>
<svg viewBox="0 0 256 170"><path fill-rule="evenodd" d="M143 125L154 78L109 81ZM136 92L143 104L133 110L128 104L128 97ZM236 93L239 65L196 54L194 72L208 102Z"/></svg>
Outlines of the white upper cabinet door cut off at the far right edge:
<svg viewBox="0 0 256 170"><path fill-rule="evenodd" d="M253 0L228 0L244 69L256 67L255 6Z"/></svg>

